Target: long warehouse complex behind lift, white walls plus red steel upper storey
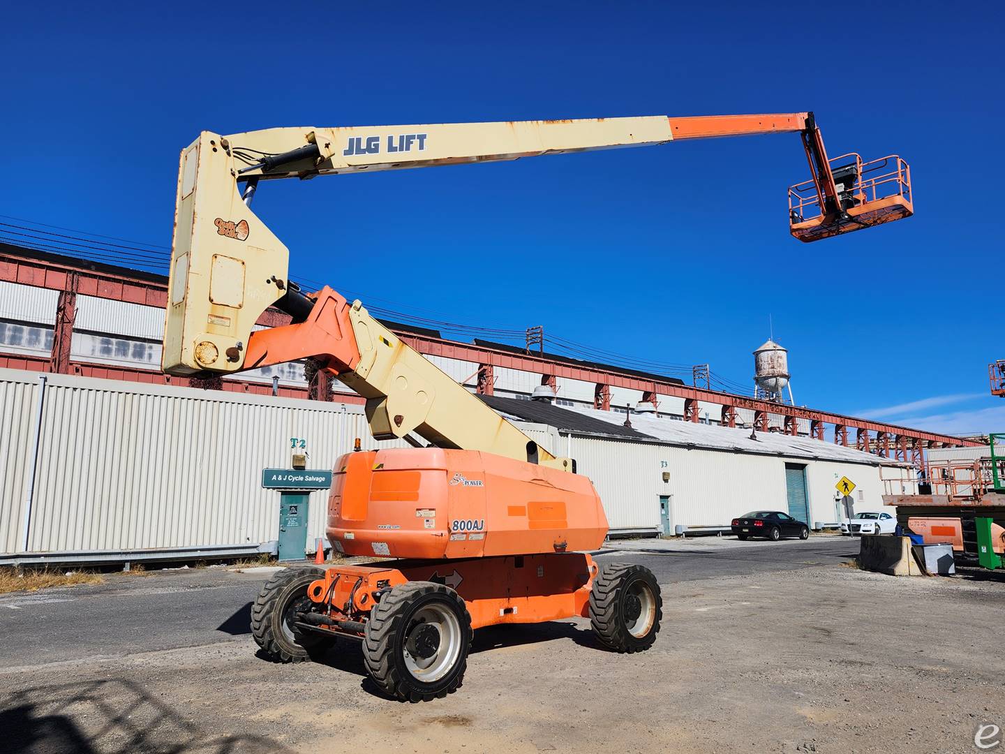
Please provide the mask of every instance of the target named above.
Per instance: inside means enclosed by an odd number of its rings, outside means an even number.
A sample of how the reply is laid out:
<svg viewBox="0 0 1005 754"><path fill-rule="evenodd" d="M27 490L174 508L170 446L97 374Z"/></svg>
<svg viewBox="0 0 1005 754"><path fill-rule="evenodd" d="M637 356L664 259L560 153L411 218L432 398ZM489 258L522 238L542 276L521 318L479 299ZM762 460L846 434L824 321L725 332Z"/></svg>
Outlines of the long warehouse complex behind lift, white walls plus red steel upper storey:
<svg viewBox="0 0 1005 754"><path fill-rule="evenodd" d="M389 444L370 437L358 396L309 382L304 364L209 385L164 375L165 297L163 275L0 243L0 562L271 552L278 495L261 489L261 469L289 464L290 438L305 440L313 468L330 468L356 437ZM282 317L266 312L259 327ZM724 525L752 509L834 523L842 477L856 485L856 510L878 510L883 492L912 491L928 448L964 444L386 324L542 445L576 458L616 534ZM552 402L531 399L545 387ZM309 543L323 535L324 508L315 493Z"/></svg>

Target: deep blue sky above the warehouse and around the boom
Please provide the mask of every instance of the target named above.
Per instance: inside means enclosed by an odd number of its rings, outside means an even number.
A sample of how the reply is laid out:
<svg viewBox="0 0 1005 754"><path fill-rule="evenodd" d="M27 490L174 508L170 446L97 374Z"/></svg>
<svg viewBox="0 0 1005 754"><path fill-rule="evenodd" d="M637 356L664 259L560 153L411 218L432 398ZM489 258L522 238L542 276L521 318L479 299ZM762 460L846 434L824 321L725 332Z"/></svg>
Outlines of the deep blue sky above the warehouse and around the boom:
<svg viewBox="0 0 1005 754"><path fill-rule="evenodd" d="M770 315L799 403L1005 429L1005 11L764 5L17 4L0 213L168 245L204 129L813 110L830 154L910 161L915 217L792 239L795 135L273 183L255 210L294 273L390 309L744 384Z"/></svg>

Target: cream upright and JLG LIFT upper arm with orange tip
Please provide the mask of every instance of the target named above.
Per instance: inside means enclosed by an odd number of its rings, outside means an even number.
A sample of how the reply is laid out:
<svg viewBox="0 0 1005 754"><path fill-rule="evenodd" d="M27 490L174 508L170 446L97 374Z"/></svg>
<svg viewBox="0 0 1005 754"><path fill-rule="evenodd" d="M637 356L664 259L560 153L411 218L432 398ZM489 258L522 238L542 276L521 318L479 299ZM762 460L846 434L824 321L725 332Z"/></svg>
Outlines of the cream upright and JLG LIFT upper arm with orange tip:
<svg viewBox="0 0 1005 754"><path fill-rule="evenodd" d="M258 317L286 296L288 250L251 211L260 180L516 160L673 139L798 131L807 114L203 132L182 152L163 367L244 369ZM246 201L245 201L246 199Z"/></svg>

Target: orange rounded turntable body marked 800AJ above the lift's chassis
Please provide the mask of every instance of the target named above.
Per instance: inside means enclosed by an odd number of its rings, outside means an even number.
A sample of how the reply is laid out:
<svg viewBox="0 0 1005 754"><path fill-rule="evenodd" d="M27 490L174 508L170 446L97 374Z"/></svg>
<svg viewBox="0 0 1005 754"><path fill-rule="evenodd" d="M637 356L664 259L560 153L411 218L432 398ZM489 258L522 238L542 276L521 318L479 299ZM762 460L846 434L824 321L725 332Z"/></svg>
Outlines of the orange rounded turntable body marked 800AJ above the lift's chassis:
<svg viewBox="0 0 1005 754"><path fill-rule="evenodd" d="M348 555L479 558L594 550L607 517L586 477L477 450L347 453L327 535Z"/></svg>

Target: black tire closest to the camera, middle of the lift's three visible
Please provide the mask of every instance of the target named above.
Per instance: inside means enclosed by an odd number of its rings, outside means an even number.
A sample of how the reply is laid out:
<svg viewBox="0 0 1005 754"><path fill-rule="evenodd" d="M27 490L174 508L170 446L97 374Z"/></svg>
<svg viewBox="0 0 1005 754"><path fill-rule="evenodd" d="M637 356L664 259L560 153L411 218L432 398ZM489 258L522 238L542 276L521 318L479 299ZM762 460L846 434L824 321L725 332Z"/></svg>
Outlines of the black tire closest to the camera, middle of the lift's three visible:
<svg viewBox="0 0 1005 754"><path fill-rule="evenodd" d="M427 683L405 665L405 639L411 617L437 603L447 607L460 624L460 651L443 678ZM386 592L370 611L363 638L363 661L370 678L389 696L403 702L431 702L453 694L464 681L471 648L471 616L453 589L431 581L409 581Z"/></svg>

